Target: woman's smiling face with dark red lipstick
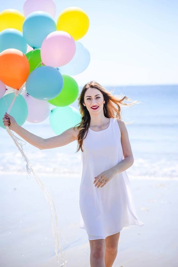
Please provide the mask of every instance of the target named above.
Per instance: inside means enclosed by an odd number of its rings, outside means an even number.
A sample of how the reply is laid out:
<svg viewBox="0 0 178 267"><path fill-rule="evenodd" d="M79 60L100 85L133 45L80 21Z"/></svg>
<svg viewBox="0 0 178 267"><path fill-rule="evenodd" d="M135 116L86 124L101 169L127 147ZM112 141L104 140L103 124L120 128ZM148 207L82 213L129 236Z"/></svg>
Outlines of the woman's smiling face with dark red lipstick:
<svg viewBox="0 0 178 267"><path fill-rule="evenodd" d="M105 101L104 101L103 94L98 89L89 88L85 91L83 104L86 106L89 113L94 114L94 113L99 113L101 111L103 112L104 103Z"/></svg>

